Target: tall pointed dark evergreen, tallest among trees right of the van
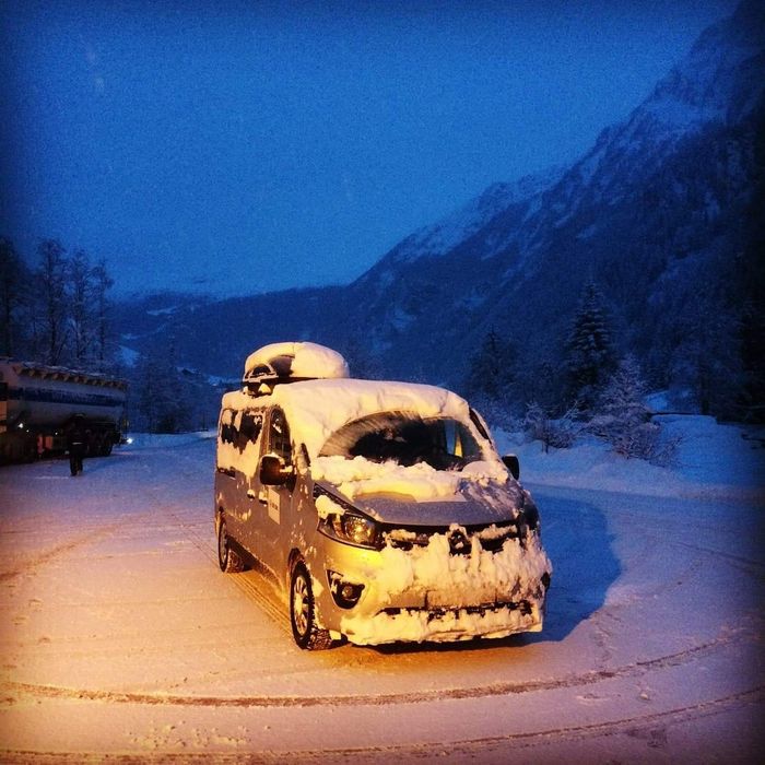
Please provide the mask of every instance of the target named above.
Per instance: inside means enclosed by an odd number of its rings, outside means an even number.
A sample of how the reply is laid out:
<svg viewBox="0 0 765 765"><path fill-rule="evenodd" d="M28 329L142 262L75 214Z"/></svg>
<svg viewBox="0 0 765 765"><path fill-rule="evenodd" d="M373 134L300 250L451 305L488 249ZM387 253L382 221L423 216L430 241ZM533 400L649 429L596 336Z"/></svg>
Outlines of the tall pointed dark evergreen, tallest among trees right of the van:
<svg viewBox="0 0 765 765"><path fill-rule="evenodd" d="M611 321L593 282L579 298L566 340L565 364L570 398L582 410L591 409L614 367Z"/></svg>

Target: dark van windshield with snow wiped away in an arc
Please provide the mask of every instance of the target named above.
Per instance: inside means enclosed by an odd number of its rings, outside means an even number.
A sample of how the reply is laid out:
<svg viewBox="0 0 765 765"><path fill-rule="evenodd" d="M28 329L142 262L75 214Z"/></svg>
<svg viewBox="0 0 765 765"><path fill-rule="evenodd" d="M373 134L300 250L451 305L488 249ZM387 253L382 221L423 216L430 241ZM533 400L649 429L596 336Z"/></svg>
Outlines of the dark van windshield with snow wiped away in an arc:
<svg viewBox="0 0 765 765"><path fill-rule="evenodd" d="M364 457L403 467L426 462L436 470L460 470L484 459L464 423L411 412L381 412L354 420L330 436L320 456Z"/></svg>

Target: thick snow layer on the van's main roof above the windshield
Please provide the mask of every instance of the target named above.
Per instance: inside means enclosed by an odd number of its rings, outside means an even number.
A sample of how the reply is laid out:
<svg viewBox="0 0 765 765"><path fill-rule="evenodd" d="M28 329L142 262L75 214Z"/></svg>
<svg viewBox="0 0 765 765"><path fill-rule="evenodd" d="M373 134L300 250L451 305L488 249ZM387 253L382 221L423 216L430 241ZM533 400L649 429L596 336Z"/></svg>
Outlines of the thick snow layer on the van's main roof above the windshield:
<svg viewBox="0 0 765 765"><path fill-rule="evenodd" d="M405 411L423 417L451 416L470 421L468 402L445 388L415 382L321 379L280 385L270 396L226 393L224 405L235 409L279 404L286 414L295 444L318 456L327 439L345 423L378 412Z"/></svg>

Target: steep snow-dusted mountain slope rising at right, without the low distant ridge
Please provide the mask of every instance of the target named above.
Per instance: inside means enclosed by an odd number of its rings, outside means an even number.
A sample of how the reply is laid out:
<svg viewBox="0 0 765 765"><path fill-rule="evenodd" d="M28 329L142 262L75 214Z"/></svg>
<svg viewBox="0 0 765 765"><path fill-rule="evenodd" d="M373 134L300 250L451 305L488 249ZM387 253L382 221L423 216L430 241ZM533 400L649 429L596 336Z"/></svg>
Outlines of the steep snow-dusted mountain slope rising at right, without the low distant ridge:
<svg viewBox="0 0 765 765"><path fill-rule="evenodd" d="M595 279L622 345L666 365L679 331L663 315L669 304L679 318L701 283L735 290L744 278L734 256L752 239L764 16L762 3L746 2L711 26L580 161L490 216L461 221L464 236L449 249L431 246L433 228L405 239L352 285L352 325L398 374L458 384L492 327L521 358L548 354Z"/></svg>

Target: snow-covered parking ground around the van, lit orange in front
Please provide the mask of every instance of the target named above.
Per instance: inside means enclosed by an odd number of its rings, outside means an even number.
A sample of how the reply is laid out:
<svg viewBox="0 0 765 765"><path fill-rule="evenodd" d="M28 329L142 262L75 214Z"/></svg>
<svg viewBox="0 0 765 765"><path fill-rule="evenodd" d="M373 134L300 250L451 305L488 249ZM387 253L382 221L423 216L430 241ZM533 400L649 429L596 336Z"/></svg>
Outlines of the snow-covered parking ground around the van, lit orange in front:
<svg viewBox="0 0 765 765"><path fill-rule="evenodd" d="M545 629L440 647L296 648L262 576L217 569L210 438L2 468L0 758L762 761L765 451L670 426L673 471L503 435Z"/></svg>

